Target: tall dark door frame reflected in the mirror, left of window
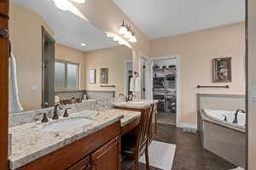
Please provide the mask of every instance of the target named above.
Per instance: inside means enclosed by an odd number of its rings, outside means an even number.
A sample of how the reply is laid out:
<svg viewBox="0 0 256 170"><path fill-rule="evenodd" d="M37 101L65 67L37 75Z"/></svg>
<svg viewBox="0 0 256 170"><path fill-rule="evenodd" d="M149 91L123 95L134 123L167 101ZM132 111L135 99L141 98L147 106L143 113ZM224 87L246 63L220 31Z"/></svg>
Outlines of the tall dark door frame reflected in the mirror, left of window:
<svg viewBox="0 0 256 170"><path fill-rule="evenodd" d="M55 40L42 27L42 108L55 105Z"/></svg>

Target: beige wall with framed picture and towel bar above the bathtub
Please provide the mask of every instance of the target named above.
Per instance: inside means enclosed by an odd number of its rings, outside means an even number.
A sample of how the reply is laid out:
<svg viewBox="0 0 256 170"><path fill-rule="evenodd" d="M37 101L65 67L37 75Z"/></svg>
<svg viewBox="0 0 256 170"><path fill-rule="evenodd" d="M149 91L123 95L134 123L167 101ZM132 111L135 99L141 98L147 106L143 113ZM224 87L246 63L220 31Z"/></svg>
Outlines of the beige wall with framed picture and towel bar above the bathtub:
<svg viewBox="0 0 256 170"><path fill-rule="evenodd" d="M181 122L195 125L196 94L245 94L245 25L220 26L150 41L150 56L181 57ZM232 57L232 82L212 83L212 59ZM229 84L229 89L197 89ZM240 106L237 105L237 108Z"/></svg>

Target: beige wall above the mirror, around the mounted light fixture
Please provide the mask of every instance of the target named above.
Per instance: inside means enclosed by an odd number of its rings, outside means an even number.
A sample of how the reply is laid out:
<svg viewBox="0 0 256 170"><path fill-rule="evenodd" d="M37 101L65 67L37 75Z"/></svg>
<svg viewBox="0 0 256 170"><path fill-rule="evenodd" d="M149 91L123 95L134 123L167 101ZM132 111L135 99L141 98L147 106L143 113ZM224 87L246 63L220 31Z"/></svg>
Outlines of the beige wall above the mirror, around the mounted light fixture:
<svg viewBox="0 0 256 170"><path fill-rule="evenodd" d="M86 0L84 4L73 3L93 26L102 31L118 33L122 20L129 23L136 31L137 42L131 43L134 50L149 55L149 40L137 26L124 14L124 12L113 3L112 0Z"/></svg>

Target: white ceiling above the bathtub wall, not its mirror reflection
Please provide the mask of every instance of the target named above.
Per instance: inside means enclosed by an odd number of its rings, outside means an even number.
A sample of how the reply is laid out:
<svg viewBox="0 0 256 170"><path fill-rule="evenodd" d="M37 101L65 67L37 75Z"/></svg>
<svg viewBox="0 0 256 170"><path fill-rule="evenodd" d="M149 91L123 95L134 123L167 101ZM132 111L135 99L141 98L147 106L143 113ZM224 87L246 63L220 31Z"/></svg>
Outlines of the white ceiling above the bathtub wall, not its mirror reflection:
<svg viewBox="0 0 256 170"><path fill-rule="evenodd" d="M245 20L245 0L113 0L150 38Z"/></svg>

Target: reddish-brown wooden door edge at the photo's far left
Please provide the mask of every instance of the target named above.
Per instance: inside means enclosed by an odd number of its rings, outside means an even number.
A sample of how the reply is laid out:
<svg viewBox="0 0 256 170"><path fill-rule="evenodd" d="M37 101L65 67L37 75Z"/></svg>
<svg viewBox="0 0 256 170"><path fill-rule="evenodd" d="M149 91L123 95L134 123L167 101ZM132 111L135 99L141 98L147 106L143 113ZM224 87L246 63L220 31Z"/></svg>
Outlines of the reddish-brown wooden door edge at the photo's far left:
<svg viewBox="0 0 256 170"><path fill-rule="evenodd" d="M0 169L8 169L9 0L0 0Z"/></svg>

